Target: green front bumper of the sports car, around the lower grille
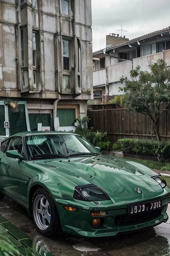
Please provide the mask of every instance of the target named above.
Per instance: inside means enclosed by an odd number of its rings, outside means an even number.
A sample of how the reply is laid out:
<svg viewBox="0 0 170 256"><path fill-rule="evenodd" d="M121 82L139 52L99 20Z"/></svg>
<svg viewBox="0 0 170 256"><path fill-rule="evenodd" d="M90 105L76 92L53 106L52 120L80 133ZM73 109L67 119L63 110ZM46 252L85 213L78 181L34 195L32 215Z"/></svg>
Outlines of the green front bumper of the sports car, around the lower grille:
<svg viewBox="0 0 170 256"><path fill-rule="evenodd" d="M104 207L103 210L109 210L109 214L100 218L102 220L101 225L97 228L91 226L91 220L96 219L96 217L91 216L90 210L79 209L76 212L70 212L63 208L63 204L58 204L57 208L63 232L74 236L97 238L115 236L118 233L134 232L166 222L168 220L166 210L169 202L169 197L162 199L162 210L155 211L150 216L142 216L138 220L128 219L127 208L110 210L108 209L110 207ZM95 210L97 211L98 209L96 208Z"/></svg>

